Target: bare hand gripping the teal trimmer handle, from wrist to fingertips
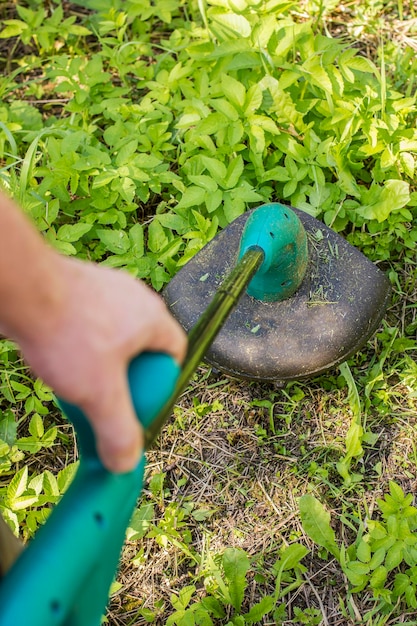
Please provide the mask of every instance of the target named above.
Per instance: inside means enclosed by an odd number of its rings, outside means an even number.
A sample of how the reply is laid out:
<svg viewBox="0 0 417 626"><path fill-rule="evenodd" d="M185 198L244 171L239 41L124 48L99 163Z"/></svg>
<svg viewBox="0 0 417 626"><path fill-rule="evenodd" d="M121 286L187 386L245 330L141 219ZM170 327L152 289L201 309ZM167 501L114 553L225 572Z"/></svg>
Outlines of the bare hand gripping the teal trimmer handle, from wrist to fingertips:
<svg viewBox="0 0 417 626"><path fill-rule="evenodd" d="M128 274L74 259L57 262L61 306L40 333L21 341L23 354L38 376L87 415L104 465L130 470L143 440L128 364L145 350L181 362L185 335L162 299Z"/></svg>

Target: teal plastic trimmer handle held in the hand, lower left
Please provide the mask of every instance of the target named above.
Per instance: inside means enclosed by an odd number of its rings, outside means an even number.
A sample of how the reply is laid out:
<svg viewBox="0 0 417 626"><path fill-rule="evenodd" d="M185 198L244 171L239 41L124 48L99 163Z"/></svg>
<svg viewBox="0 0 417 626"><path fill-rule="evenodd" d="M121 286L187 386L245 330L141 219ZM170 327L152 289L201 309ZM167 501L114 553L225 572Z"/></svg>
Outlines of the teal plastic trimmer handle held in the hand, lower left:
<svg viewBox="0 0 417 626"><path fill-rule="evenodd" d="M143 353L128 371L132 401L146 429L174 393L172 357ZM81 450L61 501L0 583L0 626L99 626L126 528L142 490L145 455L125 474L104 468L84 414L64 401Z"/></svg>

